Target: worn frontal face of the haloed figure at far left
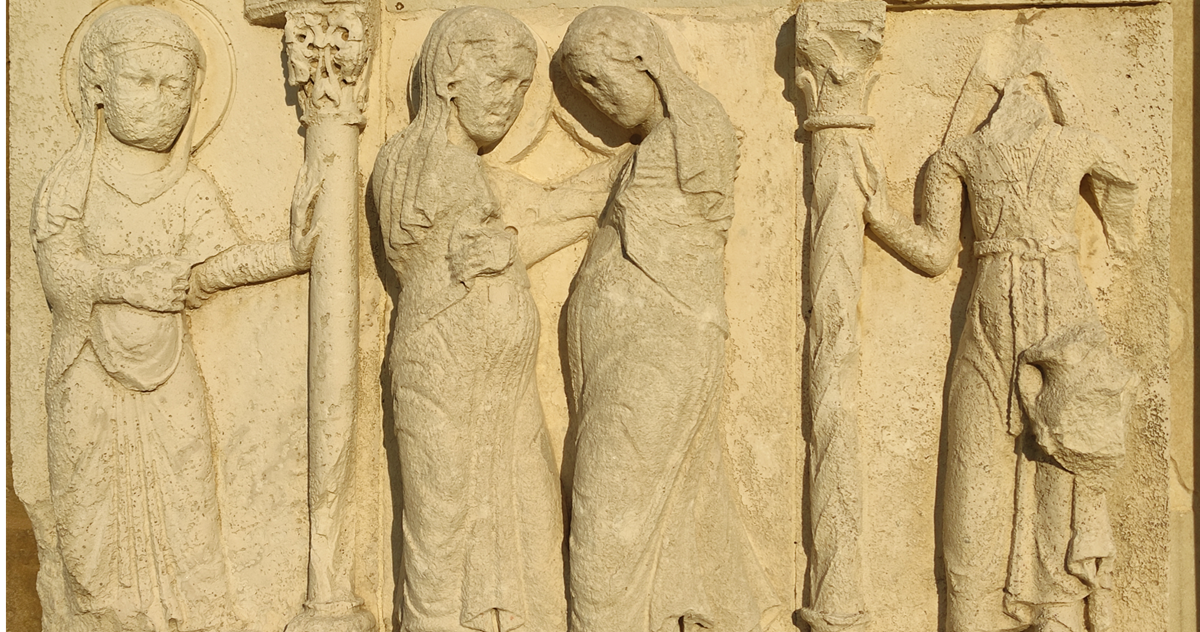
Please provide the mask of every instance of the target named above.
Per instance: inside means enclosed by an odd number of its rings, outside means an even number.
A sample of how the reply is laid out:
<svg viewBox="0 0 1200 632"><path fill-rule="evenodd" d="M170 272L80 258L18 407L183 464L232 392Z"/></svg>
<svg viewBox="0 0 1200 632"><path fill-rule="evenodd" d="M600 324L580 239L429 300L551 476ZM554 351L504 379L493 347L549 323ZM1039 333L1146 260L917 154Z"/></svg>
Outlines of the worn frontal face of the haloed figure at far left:
<svg viewBox="0 0 1200 632"><path fill-rule="evenodd" d="M167 151L187 122L194 88L196 66L175 48L110 53L101 86L108 131L126 145Z"/></svg>

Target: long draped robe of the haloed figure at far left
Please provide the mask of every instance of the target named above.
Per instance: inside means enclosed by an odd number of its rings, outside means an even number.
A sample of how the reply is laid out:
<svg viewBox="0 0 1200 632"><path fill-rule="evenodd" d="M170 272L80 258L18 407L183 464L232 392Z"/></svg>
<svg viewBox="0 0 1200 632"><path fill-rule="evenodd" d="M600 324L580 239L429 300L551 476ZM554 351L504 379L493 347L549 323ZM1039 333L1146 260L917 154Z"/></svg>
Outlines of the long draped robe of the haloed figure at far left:
<svg viewBox="0 0 1200 632"><path fill-rule="evenodd" d="M228 583L205 389L185 317L94 303L89 284L101 269L154 257L199 264L236 235L198 169L149 200L116 186L95 177L82 217L38 245L56 306L46 404L64 574L85 618L210 630L227 615Z"/></svg>

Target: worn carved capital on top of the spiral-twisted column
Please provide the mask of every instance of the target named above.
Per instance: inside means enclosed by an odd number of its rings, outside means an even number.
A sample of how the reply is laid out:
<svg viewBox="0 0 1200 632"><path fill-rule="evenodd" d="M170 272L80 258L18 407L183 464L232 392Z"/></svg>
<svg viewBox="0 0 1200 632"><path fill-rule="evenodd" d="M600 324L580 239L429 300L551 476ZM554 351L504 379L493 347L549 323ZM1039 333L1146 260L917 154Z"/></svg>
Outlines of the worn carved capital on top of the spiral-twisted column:
<svg viewBox="0 0 1200 632"><path fill-rule="evenodd" d="M803 2L796 12L796 83L804 90L804 127L869 128L871 70L883 46L883 1Z"/></svg>

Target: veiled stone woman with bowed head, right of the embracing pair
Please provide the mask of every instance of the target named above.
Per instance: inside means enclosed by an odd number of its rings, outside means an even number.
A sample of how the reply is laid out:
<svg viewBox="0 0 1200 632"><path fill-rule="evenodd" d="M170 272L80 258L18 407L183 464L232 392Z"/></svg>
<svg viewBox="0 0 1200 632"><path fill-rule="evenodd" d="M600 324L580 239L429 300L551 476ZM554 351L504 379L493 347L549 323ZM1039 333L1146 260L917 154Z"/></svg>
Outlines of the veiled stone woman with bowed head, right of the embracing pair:
<svg viewBox="0 0 1200 632"><path fill-rule="evenodd" d="M738 516L718 416L733 127L642 13L583 12L559 55L641 137L568 303L571 628L758 630L779 602Z"/></svg>

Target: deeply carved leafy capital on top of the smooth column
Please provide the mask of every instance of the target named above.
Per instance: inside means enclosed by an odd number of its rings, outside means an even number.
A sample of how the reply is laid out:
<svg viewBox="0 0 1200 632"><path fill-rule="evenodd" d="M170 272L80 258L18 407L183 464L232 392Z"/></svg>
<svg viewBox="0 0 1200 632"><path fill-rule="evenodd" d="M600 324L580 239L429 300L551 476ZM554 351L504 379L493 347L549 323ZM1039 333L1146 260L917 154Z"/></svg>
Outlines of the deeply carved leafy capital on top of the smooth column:
<svg viewBox="0 0 1200 632"><path fill-rule="evenodd" d="M371 40L367 14L356 5L288 11L283 43L288 83L300 88L305 125L332 118L365 122Z"/></svg>

